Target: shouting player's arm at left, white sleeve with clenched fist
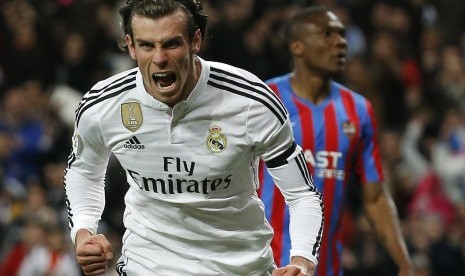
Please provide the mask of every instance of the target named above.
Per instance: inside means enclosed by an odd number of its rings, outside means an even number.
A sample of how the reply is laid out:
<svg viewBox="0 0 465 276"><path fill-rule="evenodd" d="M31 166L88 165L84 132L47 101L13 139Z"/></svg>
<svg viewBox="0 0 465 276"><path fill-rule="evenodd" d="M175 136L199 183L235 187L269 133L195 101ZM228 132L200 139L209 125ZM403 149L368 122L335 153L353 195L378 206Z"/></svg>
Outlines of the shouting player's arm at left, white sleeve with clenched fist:
<svg viewBox="0 0 465 276"><path fill-rule="evenodd" d="M98 125L83 116L73 136L64 184L71 239L86 275L101 275L113 258L111 245L97 233L105 207L105 173L110 155Z"/></svg>

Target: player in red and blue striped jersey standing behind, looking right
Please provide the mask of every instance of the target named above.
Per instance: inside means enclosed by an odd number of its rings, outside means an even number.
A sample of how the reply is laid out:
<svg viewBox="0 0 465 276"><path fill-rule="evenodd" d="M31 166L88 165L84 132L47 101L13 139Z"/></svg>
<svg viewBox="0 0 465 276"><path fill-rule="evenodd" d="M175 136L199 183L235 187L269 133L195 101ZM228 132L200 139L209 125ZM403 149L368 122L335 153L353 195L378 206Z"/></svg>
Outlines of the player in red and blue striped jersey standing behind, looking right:
<svg viewBox="0 0 465 276"><path fill-rule="evenodd" d="M363 185L366 215L398 265L399 275L411 275L397 211L383 185L371 104L333 80L346 65L344 31L340 19L324 7L301 10L285 24L284 31L293 70L267 81L289 110L296 142L302 146L313 181L323 194L324 234L316 274L343 274L343 199L348 182L358 179ZM259 195L275 229L275 260L285 265L299 246L293 239L292 225L291 232L287 227L294 214L284 205L270 175L260 171L260 177Z"/></svg>

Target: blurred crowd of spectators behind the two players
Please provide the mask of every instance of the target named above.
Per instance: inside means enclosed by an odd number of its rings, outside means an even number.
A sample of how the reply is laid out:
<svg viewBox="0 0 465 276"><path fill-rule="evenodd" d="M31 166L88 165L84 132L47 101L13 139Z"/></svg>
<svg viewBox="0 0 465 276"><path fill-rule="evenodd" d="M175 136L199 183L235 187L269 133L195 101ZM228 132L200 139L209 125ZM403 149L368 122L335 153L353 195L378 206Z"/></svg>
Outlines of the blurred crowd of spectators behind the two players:
<svg viewBox="0 0 465 276"><path fill-rule="evenodd" d="M81 275L70 243L63 170L74 110L97 81L134 67L118 0L0 0L0 275ZM386 184L416 275L465 275L465 1L203 0L201 56L263 80L290 70L282 23L304 5L347 27L338 81L376 112ZM118 257L124 172L110 159L100 225ZM342 227L348 276L396 275L350 187ZM114 265L114 264L113 264ZM114 275L110 271L108 275Z"/></svg>

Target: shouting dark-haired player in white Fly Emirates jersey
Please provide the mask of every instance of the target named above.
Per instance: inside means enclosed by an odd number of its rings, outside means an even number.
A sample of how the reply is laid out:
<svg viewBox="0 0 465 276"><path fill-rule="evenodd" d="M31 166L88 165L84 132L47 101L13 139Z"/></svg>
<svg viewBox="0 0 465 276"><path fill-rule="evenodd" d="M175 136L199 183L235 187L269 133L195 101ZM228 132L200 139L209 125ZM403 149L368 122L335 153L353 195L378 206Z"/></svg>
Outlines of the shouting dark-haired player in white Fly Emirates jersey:
<svg viewBox="0 0 465 276"><path fill-rule="evenodd" d="M138 66L84 95L65 175L84 273L104 273L113 257L98 234L113 153L129 183L119 275L313 275L321 194L282 102L253 74L197 55L207 24L198 0L129 0L119 12ZM259 159L294 214L298 246L280 268L257 195Z"/></svg>

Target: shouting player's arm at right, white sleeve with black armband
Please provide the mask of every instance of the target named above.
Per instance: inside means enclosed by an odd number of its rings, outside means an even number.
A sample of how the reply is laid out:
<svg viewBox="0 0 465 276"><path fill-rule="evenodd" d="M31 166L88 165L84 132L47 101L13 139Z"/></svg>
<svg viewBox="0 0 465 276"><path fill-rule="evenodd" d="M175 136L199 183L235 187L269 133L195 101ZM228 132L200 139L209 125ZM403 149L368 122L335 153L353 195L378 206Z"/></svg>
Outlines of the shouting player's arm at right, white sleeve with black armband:
<svg viewBox="0 0 465 276"><path fill-rule="evenodd" d="M295 143L289 112L273 91L256 76L244 72L261 90L247 112L247 137L289 208L291 264L274 275L313 275L323 235L323 202L313 184L302 148ZM257 182L258 183L258 182ZM258 186L257 186L258 189Z"/></svg>

